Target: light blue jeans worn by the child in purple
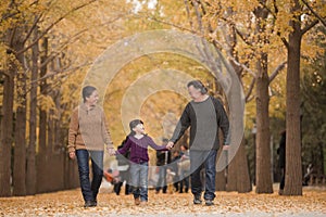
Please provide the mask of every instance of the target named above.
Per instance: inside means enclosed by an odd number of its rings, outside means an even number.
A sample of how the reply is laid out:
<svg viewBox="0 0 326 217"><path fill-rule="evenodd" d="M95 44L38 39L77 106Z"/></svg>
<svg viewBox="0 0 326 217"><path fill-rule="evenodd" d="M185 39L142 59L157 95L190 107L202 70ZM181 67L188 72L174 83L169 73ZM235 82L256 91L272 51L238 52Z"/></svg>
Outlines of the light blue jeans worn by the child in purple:
<svg viewBox="0 0 326 217"><path fill-rule="evenodd" d="M148 201L148 162L130 165L130 186L135 199Z"/></svg>

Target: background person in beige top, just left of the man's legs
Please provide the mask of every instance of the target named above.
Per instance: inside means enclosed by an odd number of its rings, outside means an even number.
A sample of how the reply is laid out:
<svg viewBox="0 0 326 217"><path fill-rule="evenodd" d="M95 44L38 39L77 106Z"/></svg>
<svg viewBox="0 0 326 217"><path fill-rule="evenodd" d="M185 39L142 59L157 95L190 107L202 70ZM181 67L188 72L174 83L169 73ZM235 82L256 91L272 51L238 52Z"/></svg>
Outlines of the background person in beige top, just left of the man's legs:
<svg viewBox="0 0 326 217"><path fill-rule="evenodd" d="M179 170L179 193L183 193L184 190L188 193L189 190L189 173L190 173L190 156L188 146L183 144L180 146L180 159L178 162L178 170ZM184 189L185 187L185 189Z"/></svg>

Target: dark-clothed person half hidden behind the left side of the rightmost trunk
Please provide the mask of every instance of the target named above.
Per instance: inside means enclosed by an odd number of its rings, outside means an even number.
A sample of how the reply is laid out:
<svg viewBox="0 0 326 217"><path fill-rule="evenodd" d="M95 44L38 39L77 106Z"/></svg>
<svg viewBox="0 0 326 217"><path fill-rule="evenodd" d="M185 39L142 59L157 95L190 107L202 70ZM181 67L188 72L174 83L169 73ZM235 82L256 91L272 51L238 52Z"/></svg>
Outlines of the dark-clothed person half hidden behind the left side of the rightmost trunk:
<svg viewBox="0 0 326 217"><path fill-rule="evenodd" d="M280 135L279 146L277 149L278 154L278 166L280 168L281 178L279 183L279 191L278 194L281 195L284 192L285 186L285 173L286 173L286 131L283 131Z"/></svg>

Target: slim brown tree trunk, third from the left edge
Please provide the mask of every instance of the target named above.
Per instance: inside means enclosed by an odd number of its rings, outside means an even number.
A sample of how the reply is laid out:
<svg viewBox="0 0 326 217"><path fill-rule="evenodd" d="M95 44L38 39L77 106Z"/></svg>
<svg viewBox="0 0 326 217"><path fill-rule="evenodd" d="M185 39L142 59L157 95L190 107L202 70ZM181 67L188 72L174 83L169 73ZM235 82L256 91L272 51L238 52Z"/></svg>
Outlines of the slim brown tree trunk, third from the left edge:
<svg viewBox="0 0 326 217"><path fill-rule="evenodd" d="M34 30L34 38L38 37L38 28ZM37 79L38 74L38 42L32 48L32 81ZM33 82L30 89L30 113L29 113L29 145L27 154L27 194L35 194L37 187L37 169L36 169L36 107L37 107L37 82Z"/></svg>

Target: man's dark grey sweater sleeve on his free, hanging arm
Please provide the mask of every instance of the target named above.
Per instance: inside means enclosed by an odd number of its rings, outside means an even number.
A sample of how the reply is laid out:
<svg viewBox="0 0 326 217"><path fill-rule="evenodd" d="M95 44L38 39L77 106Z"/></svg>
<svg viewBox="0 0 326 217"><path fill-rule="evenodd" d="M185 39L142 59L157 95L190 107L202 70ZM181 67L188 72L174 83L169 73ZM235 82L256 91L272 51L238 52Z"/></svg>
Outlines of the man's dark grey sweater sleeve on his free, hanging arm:
<svg viewBox="0 0 326 217"><path fill-rule="evenodd" d="M227 114L217 99L213 99L215 101L215 108L216 108L216 119L217 119L217 126L222 129L223 138L224 138L224 144L228 145L230 140L230 130L229 130L229 122Z"/></svg>

